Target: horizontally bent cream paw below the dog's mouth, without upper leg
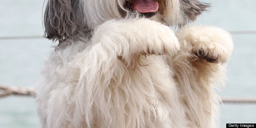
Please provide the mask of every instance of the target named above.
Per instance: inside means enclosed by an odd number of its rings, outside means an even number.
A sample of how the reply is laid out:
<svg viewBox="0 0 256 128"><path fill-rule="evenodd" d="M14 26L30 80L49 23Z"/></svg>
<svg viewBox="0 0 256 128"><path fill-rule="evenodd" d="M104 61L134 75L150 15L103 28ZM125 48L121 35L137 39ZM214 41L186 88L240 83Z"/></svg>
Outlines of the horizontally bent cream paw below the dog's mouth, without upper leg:
<svg viewBox="0 0 256 128"><path fill-rule="evenodd" d="M140 55L174 56L180 49L168 26L146 18L104 22L95 29L91 42L128 63Z"/></svg>

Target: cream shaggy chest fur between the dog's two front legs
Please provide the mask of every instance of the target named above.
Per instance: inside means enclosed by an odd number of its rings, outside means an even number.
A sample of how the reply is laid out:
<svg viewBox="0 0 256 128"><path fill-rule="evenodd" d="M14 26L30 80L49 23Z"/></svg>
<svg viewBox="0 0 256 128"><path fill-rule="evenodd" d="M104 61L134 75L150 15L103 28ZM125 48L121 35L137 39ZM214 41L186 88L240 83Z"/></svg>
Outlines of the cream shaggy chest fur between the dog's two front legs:
<svg viewBox="0 0 256 128"><path fill-rule="evenodd" d="M183 109L178 102L177 85L164 59L159 56L142 57L134 66L128 67L130 68L128 74L124 75L128 78L123 78L130 81L123 82L113 89L114 97L119 97L114 101L125 106L127 116L131 118L141 116L148 120L148 123L160 120L160 126L171 124L172 110L177 110L172 111L172 115L179 113L182 117Z"/></svg>

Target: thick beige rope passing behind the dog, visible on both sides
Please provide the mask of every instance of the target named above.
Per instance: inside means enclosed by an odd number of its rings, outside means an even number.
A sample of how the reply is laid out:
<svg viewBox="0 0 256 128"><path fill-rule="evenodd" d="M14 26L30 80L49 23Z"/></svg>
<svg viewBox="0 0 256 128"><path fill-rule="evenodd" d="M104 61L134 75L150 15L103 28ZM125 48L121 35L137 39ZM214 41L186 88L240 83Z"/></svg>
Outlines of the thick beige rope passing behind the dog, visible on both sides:
<svg viewBox="0 0 256 128"><path fill-rule="evenodd" d="M0 98L8 95L24 95L35 97L34 88L23 88L16 86L2 86L0 85ZM240 104L256 104L256 97L222 97L223 103L240 103Z"/></svg>

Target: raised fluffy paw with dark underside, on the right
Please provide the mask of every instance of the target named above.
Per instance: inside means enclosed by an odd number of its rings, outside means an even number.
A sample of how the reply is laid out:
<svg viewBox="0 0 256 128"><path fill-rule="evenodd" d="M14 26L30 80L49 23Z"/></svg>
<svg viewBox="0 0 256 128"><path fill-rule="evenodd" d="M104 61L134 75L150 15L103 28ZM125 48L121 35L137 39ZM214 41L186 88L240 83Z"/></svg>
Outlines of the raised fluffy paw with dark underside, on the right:
<svg viewBox="0 0 256 128"><path fill-rule="evenodd" d="M192 53L210 63L228 61L233 49L229 33L213 26L193 26L187 30L186 40L192 45Z"/></svg>

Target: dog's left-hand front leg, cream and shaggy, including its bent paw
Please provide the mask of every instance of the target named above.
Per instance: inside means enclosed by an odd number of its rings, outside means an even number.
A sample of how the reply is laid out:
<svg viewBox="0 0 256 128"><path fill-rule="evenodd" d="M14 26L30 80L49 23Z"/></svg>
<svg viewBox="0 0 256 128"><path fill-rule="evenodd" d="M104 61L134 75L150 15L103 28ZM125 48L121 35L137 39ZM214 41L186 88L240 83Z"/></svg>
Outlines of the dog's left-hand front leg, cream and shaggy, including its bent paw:
<svg viewBox="0 0 256 128"><path fill-rule="evenodd" d="M129 88L130 69L127 64L139 55L174 55L178 50L175 34L158 22L141 18L111 20L99 25L90 39L90 46L74 61L80 70L75 113L84 114L74 117L84 117L87 126L124 127L127 124L125 116L117 119L117 115L125 115L122 104L127 101L115 99L115 95L128 100L124 95L126 92L118 95L116 89ZM115 104L111 104L115 100Z"/></svg>

